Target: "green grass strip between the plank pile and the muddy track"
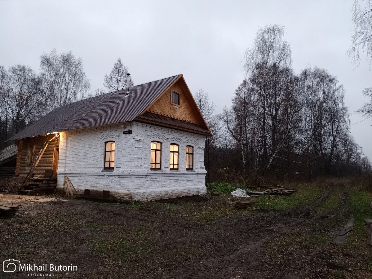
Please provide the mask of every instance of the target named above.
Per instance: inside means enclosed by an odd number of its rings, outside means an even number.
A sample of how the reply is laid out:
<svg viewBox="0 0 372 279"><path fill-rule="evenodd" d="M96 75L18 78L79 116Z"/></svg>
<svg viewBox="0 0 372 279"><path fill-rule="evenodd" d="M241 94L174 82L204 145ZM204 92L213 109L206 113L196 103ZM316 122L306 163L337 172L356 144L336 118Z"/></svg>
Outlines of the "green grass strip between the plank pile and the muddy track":
<svg viewBox="0 0 372 279"><path fill-rule="evenodd" d="M253 208L288 210L314 201L320 193L320 188L302 186L292 196L264 195L254 197L256 203Z"/></svg>

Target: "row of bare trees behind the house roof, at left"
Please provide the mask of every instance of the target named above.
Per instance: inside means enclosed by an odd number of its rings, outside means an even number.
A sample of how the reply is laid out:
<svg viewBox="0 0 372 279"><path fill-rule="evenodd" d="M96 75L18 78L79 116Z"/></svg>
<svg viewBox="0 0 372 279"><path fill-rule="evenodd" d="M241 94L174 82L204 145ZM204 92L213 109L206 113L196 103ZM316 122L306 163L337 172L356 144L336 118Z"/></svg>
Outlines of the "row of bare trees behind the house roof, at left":
<svg viewBox="0 0 372 279"><path fill-rule="evenodd" d="M89 92L83 62L71 51L53 49L42 54L39 73L26 65L8 70L0 65L0 149L12 144L7 141L10 137L59 106L125 88L127 72L119 58L103 78L105 88ZM129 84L133 85L131 78Z"/></svg>

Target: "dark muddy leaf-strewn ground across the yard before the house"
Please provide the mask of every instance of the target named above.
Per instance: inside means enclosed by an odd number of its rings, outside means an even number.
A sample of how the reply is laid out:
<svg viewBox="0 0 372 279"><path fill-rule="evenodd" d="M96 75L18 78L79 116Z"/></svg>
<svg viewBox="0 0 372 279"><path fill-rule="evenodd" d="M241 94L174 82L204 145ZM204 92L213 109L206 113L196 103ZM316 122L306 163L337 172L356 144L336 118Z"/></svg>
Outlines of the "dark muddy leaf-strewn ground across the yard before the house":
<svg viewBox="0 0 372 279"><path fill-rule="evenodd" d="M349 192L324 187L285 210L237 210L228 194L148 203L0 194L20 208L0 218L0 262L78 266L58 278L372 278L364 232L331 243L352 216Z"/></svg>

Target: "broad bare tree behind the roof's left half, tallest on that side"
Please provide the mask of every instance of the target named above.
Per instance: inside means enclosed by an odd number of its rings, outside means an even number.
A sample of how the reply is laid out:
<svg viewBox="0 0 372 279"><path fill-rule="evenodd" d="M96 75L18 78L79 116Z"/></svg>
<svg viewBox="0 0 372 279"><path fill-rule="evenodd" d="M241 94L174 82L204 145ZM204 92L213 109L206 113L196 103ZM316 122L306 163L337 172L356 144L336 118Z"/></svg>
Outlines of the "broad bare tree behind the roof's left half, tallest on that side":
<svg viewBox="0 0 372 279"><path fill-rule="evenodd" d="M75 102L90 88L81 58L75 58L71 51L44 53L40 68L50 109Z"/></svg>

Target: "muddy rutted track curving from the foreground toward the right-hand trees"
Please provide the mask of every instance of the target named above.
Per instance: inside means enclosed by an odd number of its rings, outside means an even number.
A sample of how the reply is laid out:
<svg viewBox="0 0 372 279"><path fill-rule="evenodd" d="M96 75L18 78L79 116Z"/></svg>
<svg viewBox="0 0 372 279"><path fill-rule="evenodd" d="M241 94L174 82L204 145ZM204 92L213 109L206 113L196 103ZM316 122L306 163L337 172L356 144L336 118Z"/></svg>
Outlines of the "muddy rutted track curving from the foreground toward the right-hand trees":
<svg viewBox="0 0 372 279"><path fill-rule="evenodd" d="M263 214L250 214L234 219L224 219L208 232L214 239L214 249L208 254L201 254L195 261L187 263L194 266L193 270L187 266L180 266L177 272L169 272L164 278L192 278L207 276L208 278L262 278L262 270L265 243L276 237L311 228L323 219L315 212L331 195L336 192L337 187L331 186L323 194L310 204L299 208L290 209L285 212L264 212ZM346 185L341 186L341 201L337 208L327 214L344 214L345 205L349 198ZM229 263L229 266L226 266ZM279 271L270 270L269 266L264 269L268 271L267 278L284 278L285 275ZM179 271L182 270L180 273ZM213 274L211 276L211 270ZM168 270L169 271L169 270ZM270 273L272 272L272 273ZM279 274L278 274L279 273ZM274 276L275 275L275 276ZM288 277L290 278L290 277ZM296 277L291 277L296 278Z"/></svg>

